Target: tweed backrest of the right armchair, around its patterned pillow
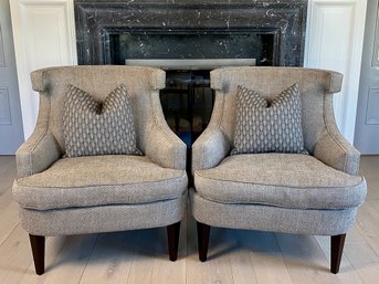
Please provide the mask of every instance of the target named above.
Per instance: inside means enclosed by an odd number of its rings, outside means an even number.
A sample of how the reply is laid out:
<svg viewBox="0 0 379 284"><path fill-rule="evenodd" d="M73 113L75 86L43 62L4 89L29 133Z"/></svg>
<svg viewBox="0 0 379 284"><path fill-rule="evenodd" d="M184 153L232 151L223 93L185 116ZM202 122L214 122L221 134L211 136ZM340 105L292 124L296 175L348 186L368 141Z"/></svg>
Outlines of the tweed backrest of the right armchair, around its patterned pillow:
<svg viewBox="0 0 379 284"><path fill-rule="evenodd" d="M220 128L231 141L235 132L239 85L271 101L296 82L302 96L304 146L310 155L325 129L324 106L328 103L325 98L338 92L341 84L339 73L304 67L228 67L213 70L210 75L215 101L222 101Z"/></svg>

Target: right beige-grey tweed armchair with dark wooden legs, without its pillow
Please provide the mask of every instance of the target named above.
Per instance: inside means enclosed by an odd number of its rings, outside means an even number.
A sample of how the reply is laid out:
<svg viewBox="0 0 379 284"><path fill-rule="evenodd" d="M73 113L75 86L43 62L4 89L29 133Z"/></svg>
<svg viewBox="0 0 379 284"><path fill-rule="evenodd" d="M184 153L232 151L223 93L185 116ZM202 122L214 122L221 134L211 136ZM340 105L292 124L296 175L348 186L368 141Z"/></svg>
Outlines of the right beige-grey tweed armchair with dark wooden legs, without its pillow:
<svg viewBox="0 0 379 284"><path fill-rule="evenodd" d="M211 227L331 236L330 271L337 273L345 235L366 197L359 152L339 134L333 93L339 73L292 67L234 67L211 72L215 102L208 128L192 146L199 257L207 260ZM244 154L234 147L238 86L272 98L297 83L303 154Z"/></svg>

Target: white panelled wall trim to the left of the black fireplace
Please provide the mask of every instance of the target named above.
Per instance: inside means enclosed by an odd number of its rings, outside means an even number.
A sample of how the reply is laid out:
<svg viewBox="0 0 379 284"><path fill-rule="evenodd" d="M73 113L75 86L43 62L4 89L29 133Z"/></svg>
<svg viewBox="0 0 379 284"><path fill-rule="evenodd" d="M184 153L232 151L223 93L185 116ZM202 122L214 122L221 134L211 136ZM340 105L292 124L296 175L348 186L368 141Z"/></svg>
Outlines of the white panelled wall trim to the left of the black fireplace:
<svg viewBox="0 0 379 284"><path fill-rule="evenodd" d="M30 72L77 64L74 4L73 0L12 0L10 8L27 139L34 129L39 109Z"/></svg>

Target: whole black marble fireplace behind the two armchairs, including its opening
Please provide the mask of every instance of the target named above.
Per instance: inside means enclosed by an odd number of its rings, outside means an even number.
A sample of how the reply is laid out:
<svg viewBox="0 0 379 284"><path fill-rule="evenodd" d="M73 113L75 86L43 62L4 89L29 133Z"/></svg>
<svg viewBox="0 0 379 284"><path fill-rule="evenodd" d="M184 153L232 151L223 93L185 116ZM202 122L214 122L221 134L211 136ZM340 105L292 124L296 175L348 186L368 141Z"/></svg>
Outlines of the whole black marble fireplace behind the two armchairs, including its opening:
<svg viewBox="0 0 379 284"><path fill-rule="evenodd" d="M210 70L241 62L303 64L307 0L74 0L74 6L78 63L149 60L165 69L164 113L189 147L210 119Z"/></svg>

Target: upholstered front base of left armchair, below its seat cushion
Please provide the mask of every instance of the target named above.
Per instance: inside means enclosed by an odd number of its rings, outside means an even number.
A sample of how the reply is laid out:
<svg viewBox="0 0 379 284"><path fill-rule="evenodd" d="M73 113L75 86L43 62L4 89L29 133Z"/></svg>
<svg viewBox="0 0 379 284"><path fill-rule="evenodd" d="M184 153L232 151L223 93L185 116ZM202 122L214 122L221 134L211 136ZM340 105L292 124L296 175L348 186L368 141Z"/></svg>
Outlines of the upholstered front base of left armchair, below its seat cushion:
<svg viewBox="0 0 379 284"><path fill-rule="evenodd" d="M179 222L186 211L188 194L177 199L143 203L114 204L57 210L20 208L21 225L35 235L67 235L115 232L166 227Z"/></svg>

